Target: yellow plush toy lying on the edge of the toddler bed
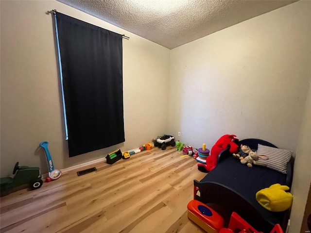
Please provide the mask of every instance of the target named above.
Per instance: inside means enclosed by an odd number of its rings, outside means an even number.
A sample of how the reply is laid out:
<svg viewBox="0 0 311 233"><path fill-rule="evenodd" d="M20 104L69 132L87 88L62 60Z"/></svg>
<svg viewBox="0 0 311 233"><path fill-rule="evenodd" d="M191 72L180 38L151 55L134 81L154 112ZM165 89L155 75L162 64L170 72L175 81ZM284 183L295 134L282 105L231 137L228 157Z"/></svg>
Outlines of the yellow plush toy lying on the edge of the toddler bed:
<svg viewBox="0 0 311 233"><path fill-rule="evenodd" d="M285 192L290 188L279 183L272 184L269 188L261 189L256 193L256 200L269 211L281 212L292 206L293 195Z"/></svg>

